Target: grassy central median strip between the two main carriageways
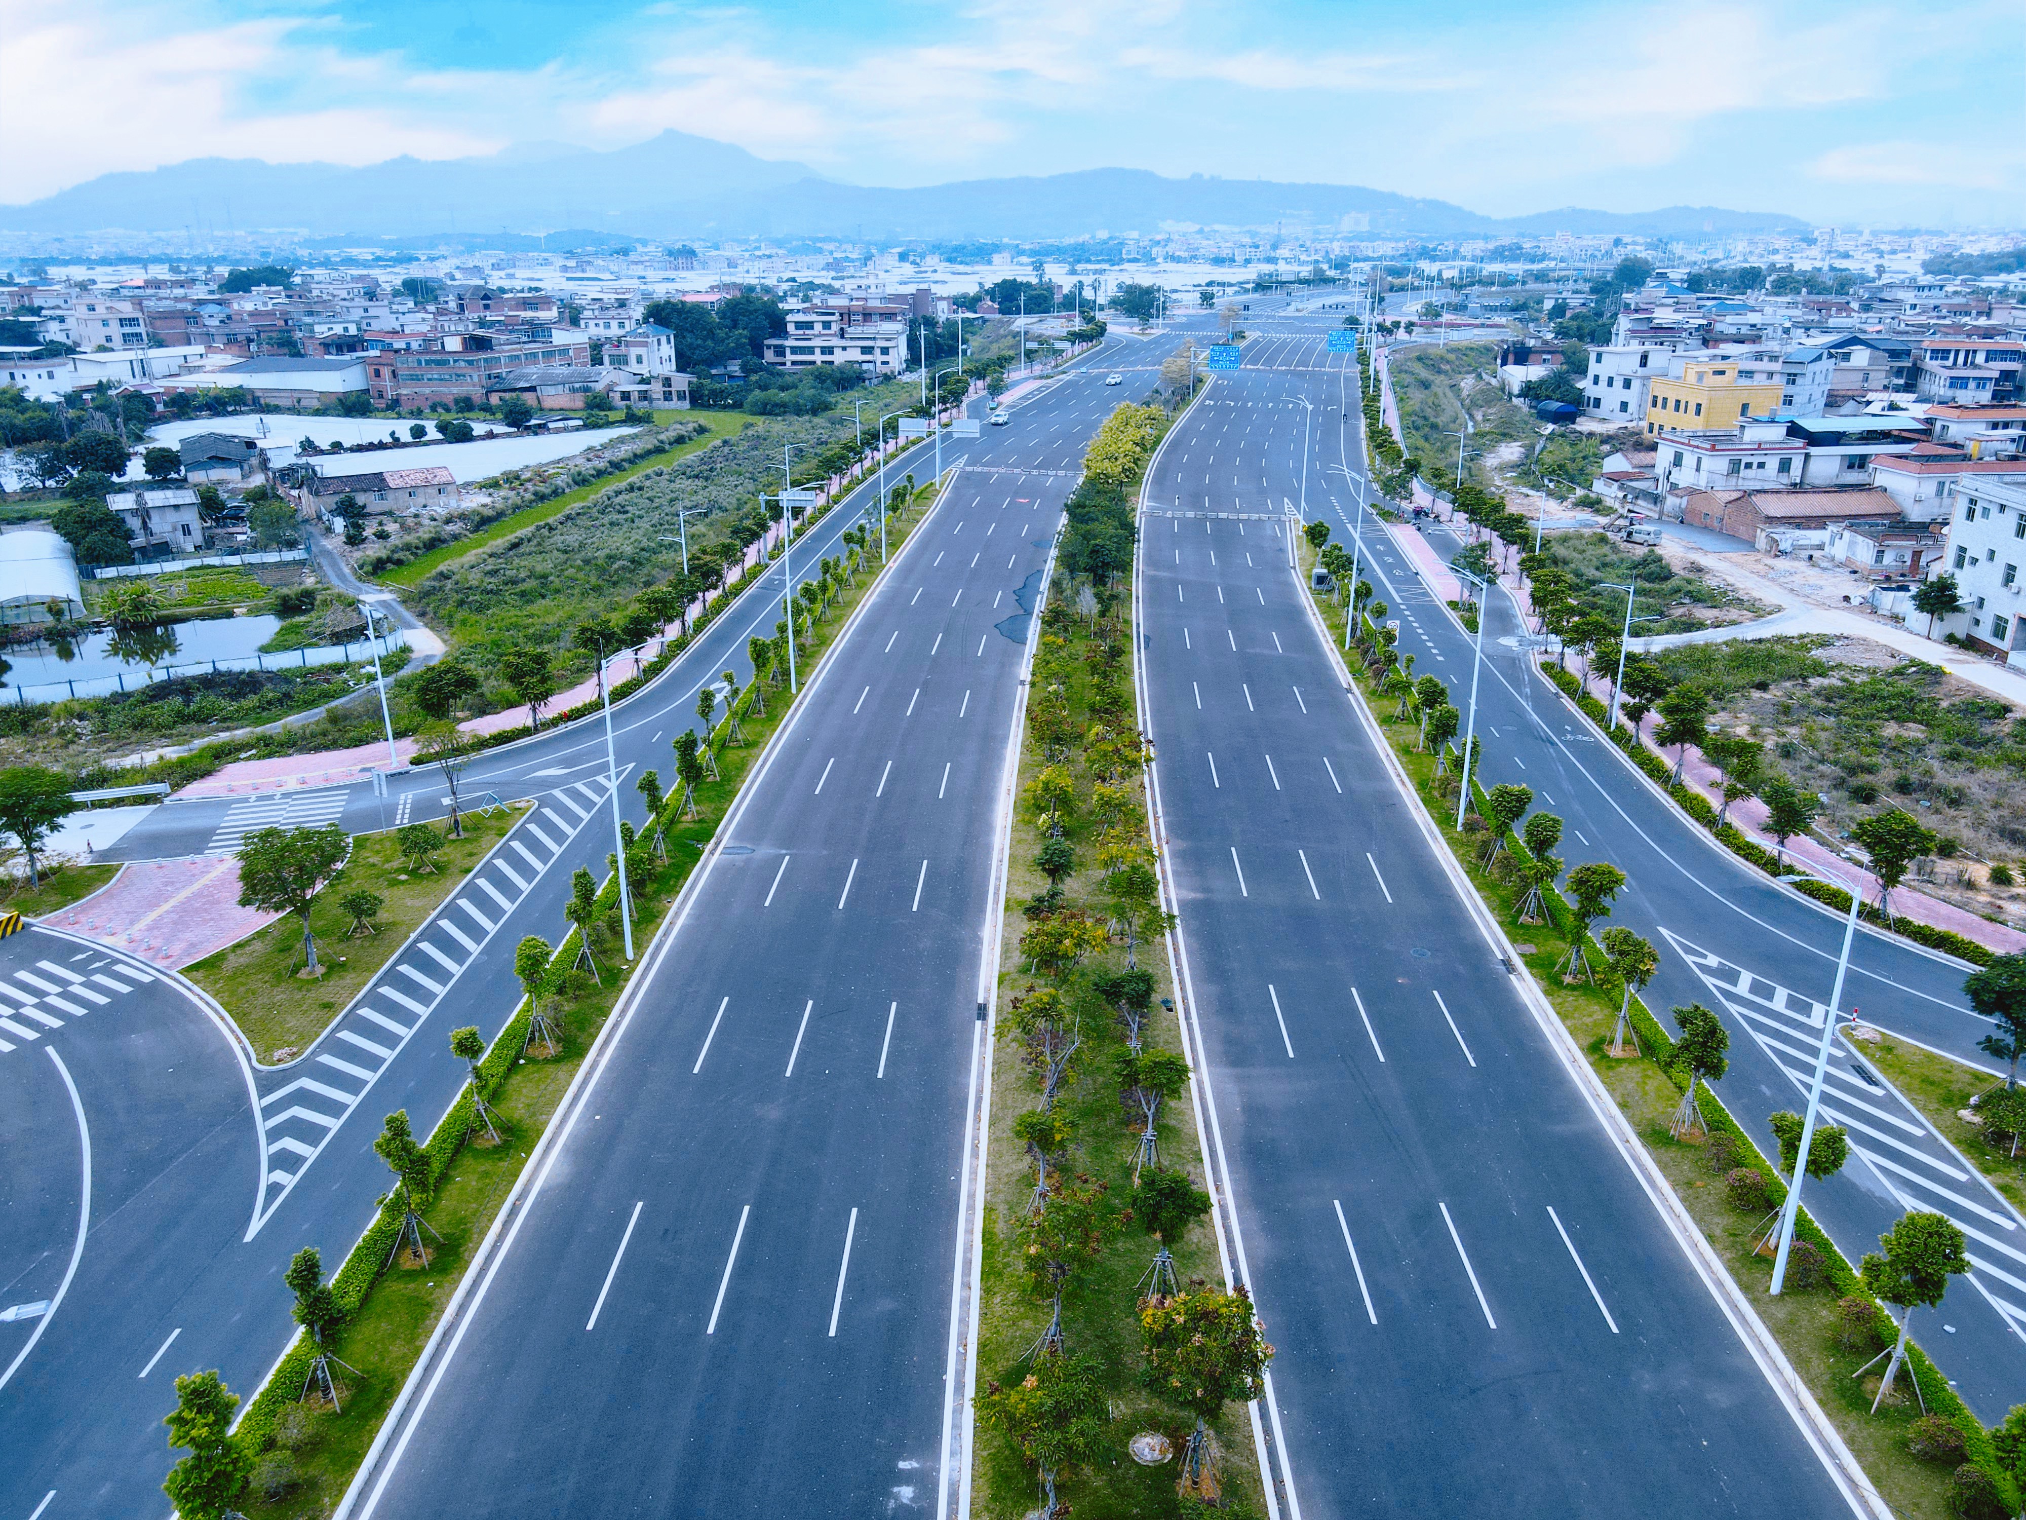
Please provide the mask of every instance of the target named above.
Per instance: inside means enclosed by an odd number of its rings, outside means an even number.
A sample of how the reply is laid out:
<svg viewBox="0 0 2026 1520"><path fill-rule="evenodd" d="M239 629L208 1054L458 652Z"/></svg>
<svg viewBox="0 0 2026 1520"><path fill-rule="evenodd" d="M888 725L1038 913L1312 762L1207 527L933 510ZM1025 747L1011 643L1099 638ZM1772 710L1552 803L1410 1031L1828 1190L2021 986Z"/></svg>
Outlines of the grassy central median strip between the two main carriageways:
<svg viewBox="0 0 2026 1520"><path fill-rule="evenodd" d="M1072 511L1074 521L1074 511ZM1074 553L1066 555L1066 563ZM1058 569L1047 602L1039 610L1041 640L1035 655L1027 730L1019 754L1019 794L1041 774L1068 774L1076 796L1074 809L1064 809L1060 835L1045 829L1033 803L1023 805L1013 819L1007 865L1007 916L1003 924L1003 955L999 967L999 1017L995 1021L991 1133L987 1143L981 1204L985 1210L981 1301L979 1301L979 1388L1015 1388L1033 1370L1027 1356L1047 1327L1051 1301L1037 1293L1023 1263L1027 1234L1023 1220L1033 1202L1035 1165L1027 1145L1015 1137L1015 1121L1039 1103L1039 1076L1033 1048L1021 1040L1013 999L1031 997L1037 989L1060 991L1078 1007L1076 1034L1080 1048L1072 1078L1062 1084L1051 1113L1074 1127L1072 1147L1051 1159L1058 1175L1070 1175L1072 1186L1102 1190L1100 1214L1102 1255L1084 1261L1068 1279L1062 1297L1064 1348L1070 1356L1088 1356L1098 1364L1098 1378L1108 1402L1100 1451L1088 1463L1066 1473L1058 1484L1058 1500L1078 1516L1167 1516L1177 1514L1177 1463L1143 1467L1126 1451L1126 1441L1141 1431L1159 1431L1175 1451L1193 1429L1193 1417L1157 1398L1141 1378L1139 1301L1145 1279L1161 1240L1133 1218L1135 1182L1133 1155L1137 1147L1137 1109L1120 1100L1114 1062L1126 1052L1118 1003L1108 999L1102 983L1128 969L1128 942L1122 932L1106 934L1102 948L1088 951L1074 969L1054 977L1037 973L1029 961L1023 936L1045 920L1031 914L1088 914L1096 924L1112 920L1118 928L1118 904L1108 894L1108 873L1098 865L1100 849L1147 849L1147 815L1137 784L1137 764L1118 768L1116 756L1090 744L1094 724L1118 734L1139 730L1139 713L1131 681L1133 620L1131 598L1122 588L1098 586L1096 616L1076 616L1080 590L1088 578ZM1102 734L1102 730L1098 730ZM1072 738L1074 736L1074 738ZM1116 788L1106 794L1104 786ZM1060 837L1078 855L1076 869L1049 894L1047 878L1035 857ZM1149 878L1151 880L1151 878ZM1143 1028L1147 1050L1181 1050L1185 1042L1173 1011L1175 991L1159 951L1159 938L1145 938L1141 924L1137 965L1151 977L1149 1017ZM1128 1123L1133 1121L1133 1123ZM1163 1103L1157 1131L1161 1159L1171 1171L1197 1180L1201 1147L1187 1094ZM1167 1240L1175 1261L1179 1287L1224 1287L1216 1236L1205 1220L1185 1230L1171 1230ZM1228 1404L1212 1427L1218 1441L1218 1477L1228 1498L1260 1506L1258 1455L1246 1409ZM1035 1508L1035 1469L1011 1437L979 1421L975 1443L975 1514L991 1520L1015 1520Z"/></svg>

